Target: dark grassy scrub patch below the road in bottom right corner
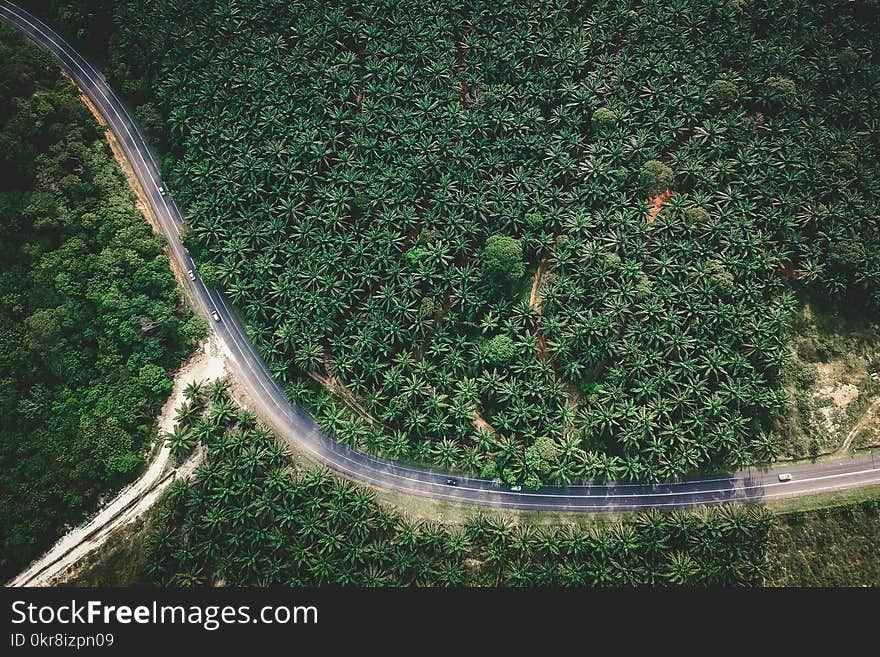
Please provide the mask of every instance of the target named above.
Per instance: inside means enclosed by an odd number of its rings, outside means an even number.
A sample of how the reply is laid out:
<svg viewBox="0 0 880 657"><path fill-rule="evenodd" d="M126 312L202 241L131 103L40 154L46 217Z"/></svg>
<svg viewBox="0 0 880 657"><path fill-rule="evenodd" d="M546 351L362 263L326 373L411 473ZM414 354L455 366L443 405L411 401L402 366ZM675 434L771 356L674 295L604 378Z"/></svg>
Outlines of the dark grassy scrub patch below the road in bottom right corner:
<svg viewBox="0 0 880 657"><path fill-rule="evenodd" d="M880 500L783 516L770 533L773 586L880 586Z"/></svg>

